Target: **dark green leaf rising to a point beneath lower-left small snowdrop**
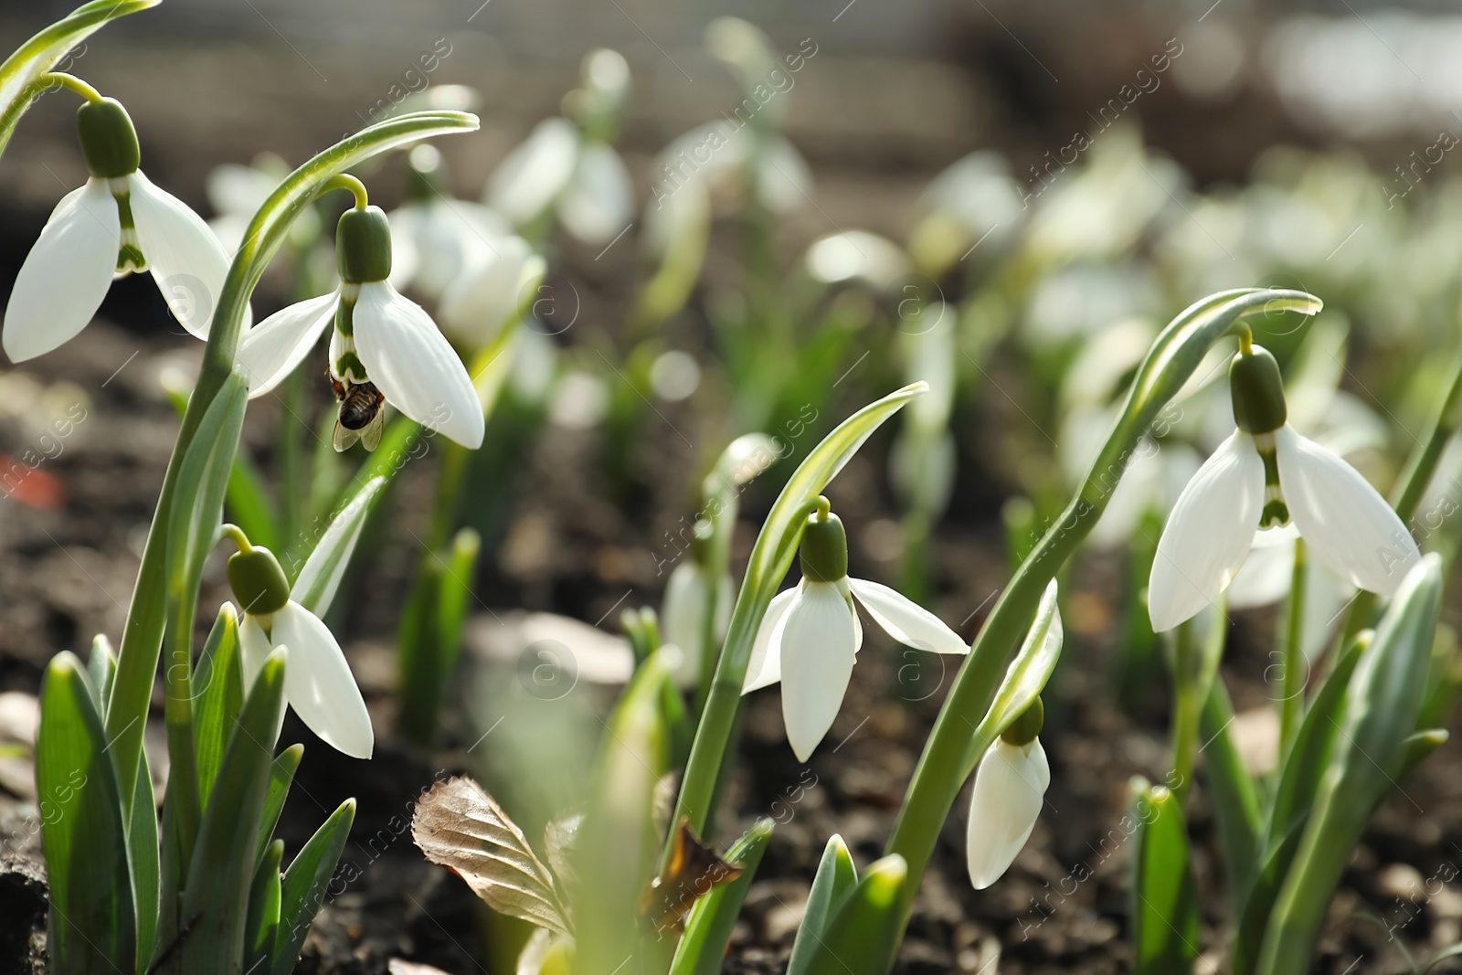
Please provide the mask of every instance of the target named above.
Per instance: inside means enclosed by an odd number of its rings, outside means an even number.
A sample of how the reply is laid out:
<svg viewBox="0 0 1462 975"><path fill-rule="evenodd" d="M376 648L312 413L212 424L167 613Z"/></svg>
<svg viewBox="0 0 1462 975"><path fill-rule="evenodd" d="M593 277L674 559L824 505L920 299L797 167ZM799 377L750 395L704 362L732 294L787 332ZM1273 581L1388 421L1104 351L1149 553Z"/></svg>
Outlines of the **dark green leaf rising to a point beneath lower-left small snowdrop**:
<svg viewBox="0 0 1462 975"><path fill-rule="evenodd" d="M244 700L213 797L203 814L183 889L181 918L189 925L178 946L183 972L238 971L256 861L249 838L259 829L273 741L284 718L285 650L269 655Z"/></svg>

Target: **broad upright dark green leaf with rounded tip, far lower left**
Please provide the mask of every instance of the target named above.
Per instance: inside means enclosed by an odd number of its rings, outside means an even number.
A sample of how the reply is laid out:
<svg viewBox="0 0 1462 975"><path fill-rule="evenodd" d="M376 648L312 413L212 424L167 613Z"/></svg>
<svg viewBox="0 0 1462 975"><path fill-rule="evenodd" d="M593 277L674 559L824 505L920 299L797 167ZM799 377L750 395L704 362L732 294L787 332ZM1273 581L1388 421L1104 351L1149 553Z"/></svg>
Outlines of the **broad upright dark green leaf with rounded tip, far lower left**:
<svg viewBox="0 0 1462 975"><path fill-rule="evenodd" d="M127 838L95 691L73 653L57 653L41 683L35 789L50 877L53 975L130 971L136 915Z"/></svg>

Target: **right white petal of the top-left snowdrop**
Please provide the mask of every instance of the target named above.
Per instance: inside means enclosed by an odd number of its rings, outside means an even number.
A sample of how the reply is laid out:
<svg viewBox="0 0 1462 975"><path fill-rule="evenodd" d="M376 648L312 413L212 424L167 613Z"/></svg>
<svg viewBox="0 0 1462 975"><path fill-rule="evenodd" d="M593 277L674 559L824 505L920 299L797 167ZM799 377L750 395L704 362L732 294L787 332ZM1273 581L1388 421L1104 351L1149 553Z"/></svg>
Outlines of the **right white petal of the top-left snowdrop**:
<svg viewBox="0 0 1462 975"><path fill-rule="evenodd" d="M127 177L127 184L132 187L137 244L158 291L183 327L206 339L218 298L224 294L230 254L202 216L154 186L140 170Z"/></svg>

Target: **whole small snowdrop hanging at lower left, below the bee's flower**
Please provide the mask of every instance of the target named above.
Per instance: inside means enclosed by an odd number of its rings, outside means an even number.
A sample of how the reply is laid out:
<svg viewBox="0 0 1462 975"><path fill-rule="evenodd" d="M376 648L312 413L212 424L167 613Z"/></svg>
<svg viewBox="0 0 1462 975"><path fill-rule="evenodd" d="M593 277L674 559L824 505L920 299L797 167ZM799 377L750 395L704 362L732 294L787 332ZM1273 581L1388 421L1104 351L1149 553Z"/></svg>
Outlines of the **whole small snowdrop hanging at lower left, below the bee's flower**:
<svg viewBox="0 0 1462 975"><path fill-rule="evenodd" d="M228 585L243 610L238 643L244 680L253 684L275 648L288 648L285 700L325 744L352 759L368 759L374 732L366 700L345 653L319 617L289 598L289 582L268 548L234 535L240 550L228 557Z"/></svg>

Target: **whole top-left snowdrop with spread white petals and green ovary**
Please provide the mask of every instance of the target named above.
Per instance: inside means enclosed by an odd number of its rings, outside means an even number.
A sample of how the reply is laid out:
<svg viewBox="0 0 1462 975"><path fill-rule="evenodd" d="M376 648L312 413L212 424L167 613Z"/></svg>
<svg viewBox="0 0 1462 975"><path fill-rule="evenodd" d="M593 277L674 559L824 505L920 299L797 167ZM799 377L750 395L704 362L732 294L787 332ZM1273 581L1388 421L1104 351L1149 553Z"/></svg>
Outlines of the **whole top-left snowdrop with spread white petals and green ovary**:
<svg viewBox="0 0 1462 975"><path fill-rule="evenodd" d="M76 113L76 129L91 178L61 197L20 266L6 354L22 363L76 338L113 279L135 270L151 270L174 317L206 339L228 273L224 247L137 168L137 132L120 102L96 95Z"/></svg>

